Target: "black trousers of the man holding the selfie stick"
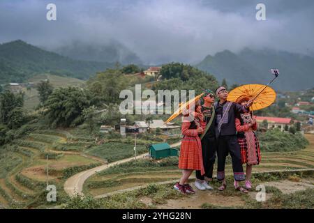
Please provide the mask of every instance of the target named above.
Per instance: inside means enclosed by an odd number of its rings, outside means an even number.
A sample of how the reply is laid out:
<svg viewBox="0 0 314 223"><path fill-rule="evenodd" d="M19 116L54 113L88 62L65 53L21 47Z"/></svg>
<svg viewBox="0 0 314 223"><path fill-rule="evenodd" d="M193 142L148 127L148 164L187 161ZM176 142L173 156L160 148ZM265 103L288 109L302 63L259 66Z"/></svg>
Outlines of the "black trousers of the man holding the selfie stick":
<svg viewBox="0 0 314 223"><path fill-rule="evenodd" d="M218 137L218 169L217 179L223 180L225 178L225 158L228 153L232 159L232 169L234 174L234 180L245 180L245 175L241 162L240 146L236 135L227 135Z"/></svg>

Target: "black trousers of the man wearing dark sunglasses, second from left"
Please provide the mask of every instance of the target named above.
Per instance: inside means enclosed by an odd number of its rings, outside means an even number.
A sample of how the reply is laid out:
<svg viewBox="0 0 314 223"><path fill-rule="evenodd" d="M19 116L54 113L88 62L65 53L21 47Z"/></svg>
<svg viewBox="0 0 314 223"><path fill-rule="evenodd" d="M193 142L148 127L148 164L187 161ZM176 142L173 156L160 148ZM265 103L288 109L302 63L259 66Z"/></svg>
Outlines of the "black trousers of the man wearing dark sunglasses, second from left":
<svg viewBox="0 0 314 223"><path fill-rule="evenodd" d="M195 171L196 178L204 180L204 177L213 178L213 169L216 159L217 142L215 137L207 137L206 135L202 139L202 155L205 174L202 176L201 171Z"/></svg>

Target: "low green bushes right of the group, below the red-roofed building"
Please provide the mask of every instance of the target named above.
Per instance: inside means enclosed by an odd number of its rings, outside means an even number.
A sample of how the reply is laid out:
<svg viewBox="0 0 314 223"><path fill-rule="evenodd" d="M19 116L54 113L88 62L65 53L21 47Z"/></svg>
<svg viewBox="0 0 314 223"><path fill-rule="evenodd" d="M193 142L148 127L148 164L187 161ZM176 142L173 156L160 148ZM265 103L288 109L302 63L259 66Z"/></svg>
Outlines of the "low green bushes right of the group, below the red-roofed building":
<svg viewBox="0 0 314 223"><path fill-rule="evenodd" d="M279 129L258 134L262 151L281 152L297 151L308 145L308 140L299 132L281 132Z"/></svg>

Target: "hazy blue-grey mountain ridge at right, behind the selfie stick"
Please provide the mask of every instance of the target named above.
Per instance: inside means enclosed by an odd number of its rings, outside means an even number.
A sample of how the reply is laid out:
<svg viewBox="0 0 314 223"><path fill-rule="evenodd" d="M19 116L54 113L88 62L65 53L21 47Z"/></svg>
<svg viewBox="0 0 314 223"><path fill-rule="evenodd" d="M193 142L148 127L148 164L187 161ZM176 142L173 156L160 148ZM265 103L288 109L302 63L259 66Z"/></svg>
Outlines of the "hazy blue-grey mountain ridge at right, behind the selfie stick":
<svg viewBox="0 0 314 223"><path fill-rule="evenodd" d="M267 84L271 68L278 68L280 77L272 84L281 91L298 91L314 86L314 58L271 49L244 49L238 54L228 50L206 56L195 65L210 72L220 82L223 78L231 84Z"/></svg>

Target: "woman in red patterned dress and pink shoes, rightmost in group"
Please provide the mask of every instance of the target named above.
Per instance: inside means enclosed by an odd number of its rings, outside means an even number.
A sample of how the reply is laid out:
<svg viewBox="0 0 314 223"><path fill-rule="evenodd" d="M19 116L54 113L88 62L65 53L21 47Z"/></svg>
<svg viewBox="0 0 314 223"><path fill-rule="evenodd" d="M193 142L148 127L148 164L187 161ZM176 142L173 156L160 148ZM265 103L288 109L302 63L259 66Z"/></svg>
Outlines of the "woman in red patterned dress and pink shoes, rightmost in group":
<svg viewBox="0 0 314 223"><path fill-rule="evenodd" d="M240 105L246 105L248 98L240 98L237 102ZM241 162L246 163L246 183L245 187L248 190L252 189L251 174L252 166L260 164L260 144L255 134L257 123L251 112L239 114L235 120L237 129L238 142L241 149Z"/></svg>

